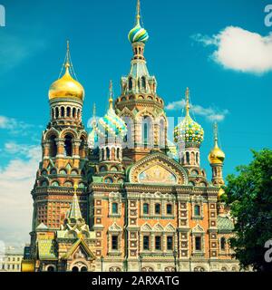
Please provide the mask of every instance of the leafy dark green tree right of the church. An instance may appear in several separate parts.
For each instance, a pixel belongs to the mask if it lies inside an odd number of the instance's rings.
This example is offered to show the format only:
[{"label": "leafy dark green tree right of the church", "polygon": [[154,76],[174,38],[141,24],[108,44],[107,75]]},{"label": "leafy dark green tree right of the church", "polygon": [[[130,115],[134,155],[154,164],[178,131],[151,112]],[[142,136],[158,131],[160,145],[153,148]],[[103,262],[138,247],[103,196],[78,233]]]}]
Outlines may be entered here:
[{"label": "leafy dark green tree right of the church", "polygon": [[272,239],[272,150],[252,152],[252,162],[227,177],[225,198],[236,220],[230,245],[242,268],[272,271],[264,257],[265,243]]}]

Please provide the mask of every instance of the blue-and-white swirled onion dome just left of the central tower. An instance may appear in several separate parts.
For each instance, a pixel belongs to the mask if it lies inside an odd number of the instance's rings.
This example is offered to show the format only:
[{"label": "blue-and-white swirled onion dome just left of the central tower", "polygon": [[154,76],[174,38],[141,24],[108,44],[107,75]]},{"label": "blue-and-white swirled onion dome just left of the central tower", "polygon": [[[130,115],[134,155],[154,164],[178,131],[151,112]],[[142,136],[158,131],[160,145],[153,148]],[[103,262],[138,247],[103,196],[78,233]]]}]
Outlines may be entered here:
[{"label": "blue-and-white swirled onion dome just left of the central tower", "polygon": [[112,105],[112,82],[110,84],[109,109],[107,113],[99,119],[97,125],[98,135],[101,137],[120,137],[123,138],[127,134],[127,126],[124,121],[115,113]]}]

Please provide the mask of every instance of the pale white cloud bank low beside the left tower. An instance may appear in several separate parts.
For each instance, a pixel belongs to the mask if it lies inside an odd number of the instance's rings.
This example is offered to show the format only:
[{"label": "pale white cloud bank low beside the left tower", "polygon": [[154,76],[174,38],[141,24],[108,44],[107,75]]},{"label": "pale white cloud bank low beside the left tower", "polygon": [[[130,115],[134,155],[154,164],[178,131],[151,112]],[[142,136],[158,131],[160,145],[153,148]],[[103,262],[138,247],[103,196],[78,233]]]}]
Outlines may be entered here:
[{"label": "pale white cloud bank low beside the left tower", "polygon": [[[24,243],[29,241],[31,230],[33,201],[30,192],[41,149],[40,146],[7,143],[5,150],[15,154],[15,159],[0,168],[0,240],[8,244]],[[18,154],[22,157],[16,157]]]}]

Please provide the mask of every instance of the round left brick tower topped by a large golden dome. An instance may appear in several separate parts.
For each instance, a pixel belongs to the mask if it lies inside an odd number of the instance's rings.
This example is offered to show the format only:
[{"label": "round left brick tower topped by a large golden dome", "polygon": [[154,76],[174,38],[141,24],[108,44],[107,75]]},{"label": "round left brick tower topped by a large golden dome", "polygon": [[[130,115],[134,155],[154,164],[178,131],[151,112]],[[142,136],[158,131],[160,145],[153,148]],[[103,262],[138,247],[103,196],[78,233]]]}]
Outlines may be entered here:
[{"label": "round left brick tower topped by a large golden dome", "polygon": [[[64,72],[63,72],[64,70]],[[67,51],[62,72],[49,89],[50,121],[42,134],[43,156],[37,170],[32,196],[34,198],[33,232],[44,223],[49,229],[63,224],[78,186],[83,217],[86,195],[87,133],[82,122],[84,89],[76,80]]]}]

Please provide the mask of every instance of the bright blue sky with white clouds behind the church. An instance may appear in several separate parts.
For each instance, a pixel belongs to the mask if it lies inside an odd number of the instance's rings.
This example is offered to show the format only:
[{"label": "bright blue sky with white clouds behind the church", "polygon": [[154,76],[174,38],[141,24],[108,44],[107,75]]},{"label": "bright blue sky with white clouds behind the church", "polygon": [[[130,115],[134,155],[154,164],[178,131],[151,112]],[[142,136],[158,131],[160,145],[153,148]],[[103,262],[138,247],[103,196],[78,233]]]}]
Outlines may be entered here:
[{"label": "bright blue sky with white clouds behind the church", "polygon": [[[269,1],[141,2],[150,34],[145,52],[150,73],[167,108],[172,102],[178,108],[167,110],[176,121],[189,86],[195,118],[205,130],[201,162],[208,173],[214,119],[219,120],[227,155],[225,175],[251,160],[250,149],[271,148],[272,39],[271,27],[264,24]],[[28,240],[29,190],[40,159],[41,131],[49,121],[47,93],[60,73],[66,40],[85,89],[87,124],[93,102],[99,115],[105,112],[109,80],[117,96],[121,76],[129,73],[127,34],[134,24],[135,3],[1,1],[6,26],[0,27],[0,200],[5,207],[0,240]]]}]

